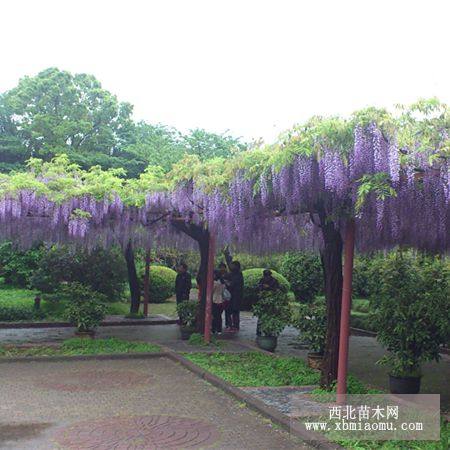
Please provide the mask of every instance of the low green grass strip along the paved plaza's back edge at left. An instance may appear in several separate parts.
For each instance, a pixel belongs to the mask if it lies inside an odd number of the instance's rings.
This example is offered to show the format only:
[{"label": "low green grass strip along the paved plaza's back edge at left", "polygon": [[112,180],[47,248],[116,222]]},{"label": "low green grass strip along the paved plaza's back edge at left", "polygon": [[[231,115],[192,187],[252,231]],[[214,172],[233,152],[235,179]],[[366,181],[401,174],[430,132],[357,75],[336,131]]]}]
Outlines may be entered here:
[{"label": "low green grass strip along the paved plaza's back edge at left", "polygon": [[0,357],[104,355],[111,353],[149,353],[159,351],[161,351],[159,346],[147,342],[131,342],[116,338],[73,338],[63,341],[59,347],[0,347]]}]

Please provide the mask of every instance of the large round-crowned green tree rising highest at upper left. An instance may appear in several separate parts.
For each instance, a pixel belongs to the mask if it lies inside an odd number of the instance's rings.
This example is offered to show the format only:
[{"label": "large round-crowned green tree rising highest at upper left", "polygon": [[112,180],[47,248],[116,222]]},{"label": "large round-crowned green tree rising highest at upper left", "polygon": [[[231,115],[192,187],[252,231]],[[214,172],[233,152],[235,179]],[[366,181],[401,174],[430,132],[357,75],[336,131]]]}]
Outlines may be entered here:
[{"label": "large round-crowned green tree rising highest at upper left", "polygon": [[132,106],[121,103],[92,75],[49,68],[24,77],[0,98],[7,134],[29,156],[63,151],[120,154],[133,133]]}]

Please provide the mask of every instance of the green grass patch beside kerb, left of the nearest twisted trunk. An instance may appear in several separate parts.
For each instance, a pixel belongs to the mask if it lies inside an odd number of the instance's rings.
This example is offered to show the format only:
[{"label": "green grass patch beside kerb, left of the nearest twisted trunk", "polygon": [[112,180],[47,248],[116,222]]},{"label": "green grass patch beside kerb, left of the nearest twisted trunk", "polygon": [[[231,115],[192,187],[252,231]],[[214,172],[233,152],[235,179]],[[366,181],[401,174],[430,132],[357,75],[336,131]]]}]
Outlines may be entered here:
[{"label": "green grass patch beside kerb, left of the nearest twisted trunk", "polygon": [[294,357],[274,358],[260,352],[184,356],[235,386],[306,386],[319,382],[319,372]]}]

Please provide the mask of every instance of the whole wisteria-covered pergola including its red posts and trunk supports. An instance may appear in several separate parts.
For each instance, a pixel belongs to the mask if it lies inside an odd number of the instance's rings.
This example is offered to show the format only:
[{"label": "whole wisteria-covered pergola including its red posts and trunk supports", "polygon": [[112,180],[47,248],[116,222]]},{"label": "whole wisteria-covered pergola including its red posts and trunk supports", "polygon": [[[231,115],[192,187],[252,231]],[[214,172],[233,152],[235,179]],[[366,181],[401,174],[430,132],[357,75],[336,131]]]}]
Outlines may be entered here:
[{"label": "whole wisteria-covered pergola including its red posts and trunk supports", "polygon": [[[425,147],[414,140],[400,146],[398,130],[376,120],[314,126],[313,132],[300,129],[274,148],[237,157],[226,178],[213,176],[224,167],[212,175],[206,167],[202,178],[188,173],[170,188],[105,183],[100,189],[79,172],[11,176],[3,182],[0,235],[23,245],[131,241],[145,248],[191,248],[193,238],[201,254],[207,341],[216,247],[319,250],[328,314],[323,381],[329,384],[337,373],[338,393],[344,393],[355,248],[449,249],[448,133],[436,127],[441,138],[428,139]],[[59,176],[75,180],[67,195],[52,188]],[[205,181],[208,176],[211,183]]]}]

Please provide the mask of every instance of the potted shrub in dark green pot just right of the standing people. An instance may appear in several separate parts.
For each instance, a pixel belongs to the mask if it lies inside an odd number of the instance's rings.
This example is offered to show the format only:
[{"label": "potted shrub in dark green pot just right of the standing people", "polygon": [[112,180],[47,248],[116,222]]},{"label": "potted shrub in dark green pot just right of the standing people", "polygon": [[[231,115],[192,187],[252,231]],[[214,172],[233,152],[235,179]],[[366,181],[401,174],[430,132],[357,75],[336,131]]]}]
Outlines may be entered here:
[{"label": "potted shrub in dark green pot just right of the standing people", "polygon": [[261,336],[257,337],[257,344],[263,350],[275,351],[278,336],[291,320],[289,297],[282,291],[267,291],[259,295],[253,305],[253,315],[259,320]]}]

